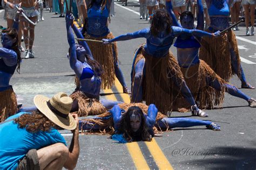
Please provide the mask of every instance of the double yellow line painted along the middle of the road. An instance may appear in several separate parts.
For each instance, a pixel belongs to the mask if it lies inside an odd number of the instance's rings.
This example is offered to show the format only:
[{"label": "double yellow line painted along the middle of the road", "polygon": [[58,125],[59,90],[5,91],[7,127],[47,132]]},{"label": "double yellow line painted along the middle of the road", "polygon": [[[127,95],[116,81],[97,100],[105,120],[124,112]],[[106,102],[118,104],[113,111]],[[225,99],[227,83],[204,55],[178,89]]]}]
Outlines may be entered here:
[{"label": "double yellow line painted along the middle of the road", "polygon": [[[78,27],[77,22],[75,22],[75,25]],[[122,100],[125,103],[130,103],[130,96],[123,93],[122,85],[117,80],[117,78],[115,81],[115,87],[119,93],[118,95],[122,97]],[[111,94],[111,95],[106,95],[107,99],[117,101],[117,98],[116,96],[114,96],[112,89],[105,89],[103,91],[106,94]],[[164,153],[161,151],[161,148],[158,146],[154,138],[150,142],[145,141],[145,144],[149,149],[159,169],[173,169],[170,162],[166,159]],[[145,160],[145,157],[142,151],[140,150],[140,147],[137,142],[127,143],[126,146],[132,157],[134,165],[136,166],[137,169],[150,169],[149,165],[147,165],[147,161]]]}]

